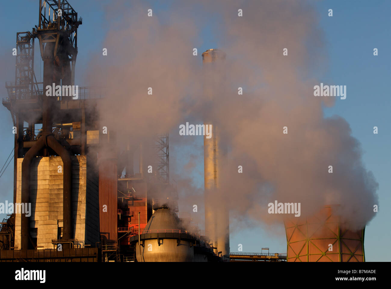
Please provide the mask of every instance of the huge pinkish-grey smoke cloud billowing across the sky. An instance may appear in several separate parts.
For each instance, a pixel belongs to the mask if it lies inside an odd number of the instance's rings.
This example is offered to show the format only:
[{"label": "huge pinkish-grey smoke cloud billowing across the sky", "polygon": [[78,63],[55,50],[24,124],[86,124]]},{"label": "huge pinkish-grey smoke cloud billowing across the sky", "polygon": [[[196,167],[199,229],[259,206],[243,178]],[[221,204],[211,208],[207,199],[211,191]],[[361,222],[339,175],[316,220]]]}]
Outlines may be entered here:
[{"label": "huge pinkish-grey smoke cloud billowing across the sky", "polygon": [[[110,87],[100,117],[120,141],[129,135],[139,140],[158,132],[178,134],[189,119],[207,119],[218,126],[228,149],[219,160],[217,195],[231,217],[280,222],[282,215],[267,213],[267,204],[278,200],[301,202],[301,217],[339,204],[337,213],[350,228],[373,218],[378,184],[361,161],[361,146],[343,118],[323,116],[322,104],[334,105],[335,98],[313,95],[327,59],[311,5],[174,1],[147,17],[149,8],[133,2],[107,11],[106,19],[120,17],[121,25],[108,23],[102,47],[108,56],[94,56],[87,76],[89,85]],[[237,16],[239,8],[243,17]],[[218,21],[208,29],[227,54],[213,74],[202,68],[202,51],[192,55],[203,41],[203,22],[212,18]],[[190,138],[176,137],[176,145],[192,148]],[[177,176],[185,180],[180,186],[188,196],[197,190],[189,170],[203,162],[195,155],[198,159]],[[333,173],[328,173],[330,165]]]}]

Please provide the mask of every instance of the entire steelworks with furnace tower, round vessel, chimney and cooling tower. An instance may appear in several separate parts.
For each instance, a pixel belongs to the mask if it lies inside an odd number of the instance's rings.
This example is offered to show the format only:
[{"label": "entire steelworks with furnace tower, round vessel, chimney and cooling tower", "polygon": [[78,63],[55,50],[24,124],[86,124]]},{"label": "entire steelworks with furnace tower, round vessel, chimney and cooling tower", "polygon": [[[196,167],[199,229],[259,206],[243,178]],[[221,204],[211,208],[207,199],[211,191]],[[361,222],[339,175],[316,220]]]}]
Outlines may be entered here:
[{"label": "entire steelworks with furnace tower, round vessel, chimney and cooling tower", "polygon": [[[0,262],[364,261],[363,231],[360,236],[341,231],[329,211],[326,225],[332,224],[335,235],[324,230],[319,235],[308,229],[311,222],[286,222],[288,256],[230,254],[229,213],[213,195],[226,151],[217,126],[212,126],[212,138],[204,137],[206,231],[188,216],[179,218],[178,195],[169,178],[168,134],[151,135],[152,144],[132,146],[129,139],[121,149],[115,132],[102,129],[97,114],[104,89],[78,87],[77,97],[46,93],[47,86],[75,84],[79,25],[82,18],[68,1],[39,0],[38,25],[16,34],[15,81],[6,83],[8,97],[2,104],[16,128],[13,202],[31,203],[31,215],[13,213],[0,224]],[[34,74],[35,39],[43,82]],[[218,49],[202,56],[205,70],[225,59]],[[150,177],[145,148],[151,145],[156,173]],[[334,244],[335,255],[325,251],[326,243]]]}]

